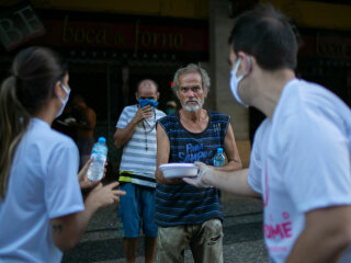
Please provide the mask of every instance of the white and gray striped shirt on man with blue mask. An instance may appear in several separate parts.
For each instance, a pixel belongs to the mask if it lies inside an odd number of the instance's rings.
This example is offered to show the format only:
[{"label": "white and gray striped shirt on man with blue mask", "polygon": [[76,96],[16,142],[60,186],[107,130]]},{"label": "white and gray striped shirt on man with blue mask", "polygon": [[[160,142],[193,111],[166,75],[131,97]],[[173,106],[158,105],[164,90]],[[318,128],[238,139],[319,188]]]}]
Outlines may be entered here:
[{"label": "white and gray striped shirt on man with blue mask", "polygon": [[[126,106],[116,127],[124,129],[137,110],[138,105]],[[163,116],[166,114],[156,108],[152,117],[136,126],[132,138],[123,148],[120,173],[132,178],[134,184],[156,187],[156,122]]]}]

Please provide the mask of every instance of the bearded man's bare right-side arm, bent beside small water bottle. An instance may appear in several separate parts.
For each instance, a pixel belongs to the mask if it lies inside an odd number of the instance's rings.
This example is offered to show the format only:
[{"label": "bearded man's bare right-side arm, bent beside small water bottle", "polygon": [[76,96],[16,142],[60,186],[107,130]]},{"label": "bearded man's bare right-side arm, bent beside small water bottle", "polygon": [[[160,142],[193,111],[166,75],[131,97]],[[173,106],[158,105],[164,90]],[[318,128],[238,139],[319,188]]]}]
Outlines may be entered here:
[{"label": "bearded man's bare right-side arm, bent beside small water bottle", "polygon": [[225,167],[216,168],[218,171],[235,171],[242,168],[239,151],[235,142],[231,125],[228,125],[228,130],[224,139],[224,150],[226,152],[228,163]]}]

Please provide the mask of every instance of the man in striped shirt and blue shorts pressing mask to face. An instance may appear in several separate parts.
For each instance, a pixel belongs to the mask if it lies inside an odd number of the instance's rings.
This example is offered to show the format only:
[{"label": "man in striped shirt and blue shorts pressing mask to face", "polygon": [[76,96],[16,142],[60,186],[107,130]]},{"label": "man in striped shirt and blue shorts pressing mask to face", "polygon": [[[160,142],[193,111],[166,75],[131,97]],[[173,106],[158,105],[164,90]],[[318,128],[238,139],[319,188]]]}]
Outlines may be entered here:
[{"label": "man in striped shirt and blue shorts pressing mask to face", "polygon": [[145,233],[145,262],[154,262],[157,226],[155,215],[156,123],[166,114],[156,108],[160,93],[154,80],[141,80],[135,93],[138,104],[126,106],[117,122],[114,145],[123,148],[120,167],[118,216],[124,228],[123,247],[127,263],[135,262],[140,225]]}]

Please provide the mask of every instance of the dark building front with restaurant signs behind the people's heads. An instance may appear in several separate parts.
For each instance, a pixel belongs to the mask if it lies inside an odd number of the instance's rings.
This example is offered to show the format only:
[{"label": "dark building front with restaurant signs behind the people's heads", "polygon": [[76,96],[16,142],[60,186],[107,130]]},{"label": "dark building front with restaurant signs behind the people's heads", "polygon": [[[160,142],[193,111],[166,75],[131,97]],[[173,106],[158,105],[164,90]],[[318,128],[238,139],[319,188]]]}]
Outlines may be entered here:
[{"label": "dark building front with restaurant signs behind the people's heads", "polygon": [[63,54],[72,93],[95,110],[95,135],[107,138],[111,159],[117,160],[115,123],[123,107],[135,103],[137,82],[151,78],[159,83],[163,110],[176,100],[174,71],[201,64],[212,78],[205,106],[231,116],[248,165],[263,116],[240,106],[230,93],[228,36],[235,18],[258,2],[270,2],[299,30],[297,76],[326,85],[350,105],[351,4],[346,0],[9,0],[0,2],[0,78],[23,47],[44,45]]}]

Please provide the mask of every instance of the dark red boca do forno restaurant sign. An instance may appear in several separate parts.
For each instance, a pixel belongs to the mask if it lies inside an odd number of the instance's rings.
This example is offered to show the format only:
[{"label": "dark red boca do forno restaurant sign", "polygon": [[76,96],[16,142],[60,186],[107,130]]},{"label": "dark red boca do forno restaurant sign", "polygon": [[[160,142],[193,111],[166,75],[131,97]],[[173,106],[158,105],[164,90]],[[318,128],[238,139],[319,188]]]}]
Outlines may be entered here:
[{"label": "dark red boca do forno restaurant sign", "polygon": [[41,44],[69,47],[117,49],[208,52],[207,28],[107,23],[70,20],[45,20],[47,34]]}]

